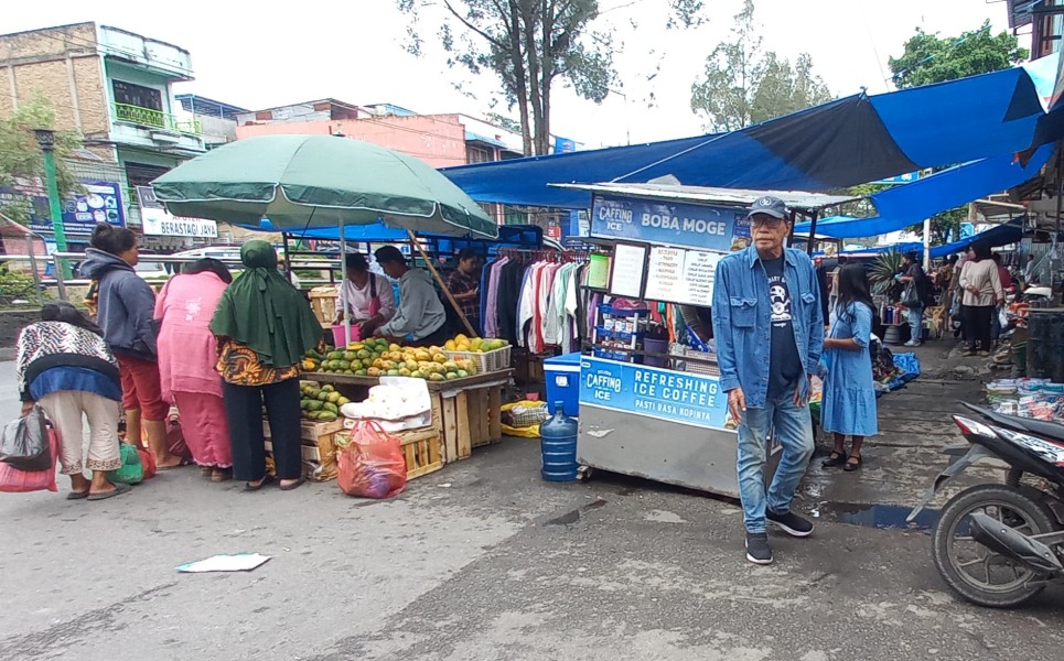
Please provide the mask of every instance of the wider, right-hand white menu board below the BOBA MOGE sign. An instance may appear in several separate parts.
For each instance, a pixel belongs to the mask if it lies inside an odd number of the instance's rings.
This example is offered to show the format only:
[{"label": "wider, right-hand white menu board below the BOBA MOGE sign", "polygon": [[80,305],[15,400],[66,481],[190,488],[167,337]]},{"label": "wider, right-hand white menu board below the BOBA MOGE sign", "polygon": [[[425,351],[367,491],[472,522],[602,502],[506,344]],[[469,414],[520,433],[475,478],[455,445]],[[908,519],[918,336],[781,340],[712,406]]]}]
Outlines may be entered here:
[{"label": "wider, right-hand white menu board below the BOBA MOGE sign", "polygon": [[668,301],[709,307],[713,303],[713,277],[723,254],[702,250],[655,247],[646,295],[651,301]]}]

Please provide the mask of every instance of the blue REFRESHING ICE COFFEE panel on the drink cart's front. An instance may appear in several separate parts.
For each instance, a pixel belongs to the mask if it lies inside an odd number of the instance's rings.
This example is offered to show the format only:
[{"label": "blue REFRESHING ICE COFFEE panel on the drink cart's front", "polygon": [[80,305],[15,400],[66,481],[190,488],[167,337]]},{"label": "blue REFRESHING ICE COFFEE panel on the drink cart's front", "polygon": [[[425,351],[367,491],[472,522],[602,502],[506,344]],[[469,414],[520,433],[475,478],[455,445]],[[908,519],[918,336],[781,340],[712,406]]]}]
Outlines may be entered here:
[{"label": "blue REFRESHING ICE COFFEE panel on the drink cart's front", "polygon": [[699,427],[728,430],[728,394],[717,377],[580,359],[580,405],[624,411]]}]

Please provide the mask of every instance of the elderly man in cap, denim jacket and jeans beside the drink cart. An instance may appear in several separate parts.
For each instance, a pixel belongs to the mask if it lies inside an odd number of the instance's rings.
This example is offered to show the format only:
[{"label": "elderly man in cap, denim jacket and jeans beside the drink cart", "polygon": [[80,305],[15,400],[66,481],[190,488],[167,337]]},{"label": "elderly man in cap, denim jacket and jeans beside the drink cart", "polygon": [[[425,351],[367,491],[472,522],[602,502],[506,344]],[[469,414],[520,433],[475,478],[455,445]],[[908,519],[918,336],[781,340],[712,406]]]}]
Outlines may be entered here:
[{"label": "elderly man in cap, denim jacket and jeans beside the drink cart", "polygon": [[[824,316],[813,262],[784,248],[791,217],[783,201],[761,197],[746,217],[753,246],[717,266],[713,335],[721,388],[739,425],[746,560],[769,564],[769,522],[794,537],[813,532],[809,521],[791,511],[791,499],[813,454],[809,378],[820,360]],[[783,457],[766,494],[770,432]]]}]

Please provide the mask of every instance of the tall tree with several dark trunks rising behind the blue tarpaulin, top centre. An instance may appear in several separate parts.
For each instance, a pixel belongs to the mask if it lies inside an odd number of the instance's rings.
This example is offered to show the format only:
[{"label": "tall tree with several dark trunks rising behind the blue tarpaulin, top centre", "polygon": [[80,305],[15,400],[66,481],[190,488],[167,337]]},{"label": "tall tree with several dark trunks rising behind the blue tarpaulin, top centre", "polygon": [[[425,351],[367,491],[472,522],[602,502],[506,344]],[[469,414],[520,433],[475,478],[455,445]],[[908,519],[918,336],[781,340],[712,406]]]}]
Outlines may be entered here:
[{"label": "tall tree with several dark trunks rising behind the blue tarpaulin, top centre", "polygon": [[[665,0],[668,26],[701,20],[702,0]],[[413,19],[409,50],[421,53],[418,19],[439,0],[396,0]],[[450,66],[494,72],[509,105],[517,106],[526,154],[550,150],[555,84],[565,80],[601,102],[617,83],[613,29],[599,22],[598,0],[442,0],[438,36]],[[438,15],[438,14],[432,14]],[[599,28],[601,25],[601,28]]]}]

